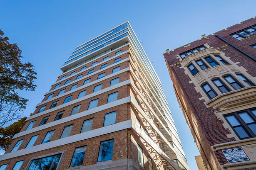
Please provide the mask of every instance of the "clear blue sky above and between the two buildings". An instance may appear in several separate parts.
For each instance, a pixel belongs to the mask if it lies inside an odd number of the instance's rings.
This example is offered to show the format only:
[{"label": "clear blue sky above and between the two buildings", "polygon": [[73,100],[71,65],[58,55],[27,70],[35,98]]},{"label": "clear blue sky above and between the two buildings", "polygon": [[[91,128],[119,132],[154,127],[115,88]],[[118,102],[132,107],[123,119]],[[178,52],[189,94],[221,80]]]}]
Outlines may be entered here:
[{"label": "clear blue sky above and between the two buildings", "polygon": [[197,170],[194,156],[199,151],[179,109],[163,53],[254,17],[255,7],[255,0],[5,0],[0,29],[37,72],[36,90],[20,92],[29,99],[24,113],[29,116],[76,46],[129,20],[162,81],[189,167]]}]

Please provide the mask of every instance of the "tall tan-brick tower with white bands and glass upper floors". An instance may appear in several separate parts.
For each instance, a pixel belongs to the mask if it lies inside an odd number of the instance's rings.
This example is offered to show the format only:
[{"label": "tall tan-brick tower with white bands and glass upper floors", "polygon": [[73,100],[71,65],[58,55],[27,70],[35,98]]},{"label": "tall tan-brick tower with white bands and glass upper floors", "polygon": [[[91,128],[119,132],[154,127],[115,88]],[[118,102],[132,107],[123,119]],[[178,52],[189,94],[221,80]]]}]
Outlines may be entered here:
[{"label": "tall tan-brick tower with white bands and glass upper floors", "polygon": [[77,46],[0,170],[189,170],[162,85],[129,22]]}]

